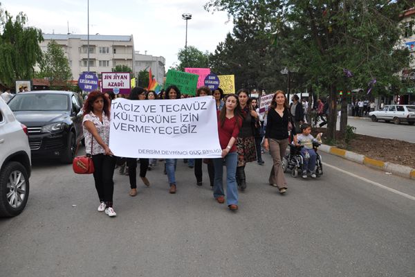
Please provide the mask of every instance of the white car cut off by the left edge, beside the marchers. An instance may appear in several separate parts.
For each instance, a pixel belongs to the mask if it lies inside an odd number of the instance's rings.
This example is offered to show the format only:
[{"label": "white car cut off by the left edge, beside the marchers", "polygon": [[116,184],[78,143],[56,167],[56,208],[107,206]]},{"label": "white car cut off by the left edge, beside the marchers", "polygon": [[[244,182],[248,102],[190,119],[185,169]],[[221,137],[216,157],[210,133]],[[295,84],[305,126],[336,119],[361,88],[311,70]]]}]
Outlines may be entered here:
[{"label": "white car cut off by the left edge, beside the marchers", "polygon": [[29,197],[28,129],[0,98],[0,217],[19,215]]}]

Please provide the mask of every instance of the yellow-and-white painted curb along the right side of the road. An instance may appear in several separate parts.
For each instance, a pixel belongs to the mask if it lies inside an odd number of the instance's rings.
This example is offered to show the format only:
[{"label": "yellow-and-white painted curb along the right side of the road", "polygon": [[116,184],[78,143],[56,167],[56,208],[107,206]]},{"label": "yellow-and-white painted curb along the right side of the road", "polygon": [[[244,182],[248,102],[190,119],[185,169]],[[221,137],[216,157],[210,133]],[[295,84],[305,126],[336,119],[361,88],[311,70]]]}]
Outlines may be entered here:
[{"label": "yellow-and-white painted curb along the right side of the road", "polygon": [[336,148],[334,146],[322,144],[319,147],[319,150],[326,152],[349,161],[354,161],[355,163],[360,163],[369,168],[375,168],[377,170],[382,170],[385,172],[391,172],[394,175],[400,177],[415,179],[415,168],[409,168],[409,166],[401,166],[396,163],[389,163],[385,161],[378,161],[371,159],[362,154],[356,154],[355,152],[350,152],[344,149]]}]

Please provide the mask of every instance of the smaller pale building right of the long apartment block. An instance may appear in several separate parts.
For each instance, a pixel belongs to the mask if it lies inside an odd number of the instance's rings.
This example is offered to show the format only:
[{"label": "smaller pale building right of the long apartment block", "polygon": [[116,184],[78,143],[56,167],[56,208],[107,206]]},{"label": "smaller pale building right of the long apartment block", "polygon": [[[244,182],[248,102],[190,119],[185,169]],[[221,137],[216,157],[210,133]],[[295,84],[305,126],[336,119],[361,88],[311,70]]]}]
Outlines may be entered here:
[{"label": "smaller pale building right of the long apartment block", "polygon": [[151,69],[151,73],[154,75],[154,78],[160,85],[162,85],[164,82],[165,64],[166,59],[164,57],[143,55],[140,54],[140,51],[136,51],[134,66],[136,73],[142,70],[149,71]]}]

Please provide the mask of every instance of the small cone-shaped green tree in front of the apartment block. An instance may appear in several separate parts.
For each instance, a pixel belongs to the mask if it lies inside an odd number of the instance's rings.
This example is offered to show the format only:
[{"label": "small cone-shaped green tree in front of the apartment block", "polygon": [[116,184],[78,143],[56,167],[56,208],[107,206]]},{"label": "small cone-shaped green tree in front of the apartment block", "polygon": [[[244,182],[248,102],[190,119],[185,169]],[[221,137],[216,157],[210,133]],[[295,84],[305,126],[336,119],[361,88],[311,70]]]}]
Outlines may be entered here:
[{"label": "small cone-shaped green tree in front of the apartment block", "polygon": [[68,80],[72,80],[68,58],[65,57],[62,46],[57,44],[55,40],[48,43],[48,50],[39,62],[39,68],[40,71],[35,73],[35,76],[37,78],[47,78],[50,81],[50,87],[62,86]]}]

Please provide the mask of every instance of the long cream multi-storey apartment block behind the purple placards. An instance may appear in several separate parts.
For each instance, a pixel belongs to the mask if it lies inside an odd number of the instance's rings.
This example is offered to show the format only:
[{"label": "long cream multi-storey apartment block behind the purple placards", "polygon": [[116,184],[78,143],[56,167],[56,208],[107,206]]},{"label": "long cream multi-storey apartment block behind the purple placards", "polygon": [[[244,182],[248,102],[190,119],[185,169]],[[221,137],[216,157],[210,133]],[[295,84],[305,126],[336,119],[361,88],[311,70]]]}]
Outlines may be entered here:
[{"label": "long cream multi-storey apartment block behind the purple placards", "polygon": [[[43,37],[44,42],[40,43],[42,51],[47,50],[51,40],[62,45],[71,66],[73,80],[88,70],[87,35],[43,34]],[[133,35],[89,35],[89,71],[101,78],[101,72],[110,72],[117,65],[129,66],[135,74]]]}]

